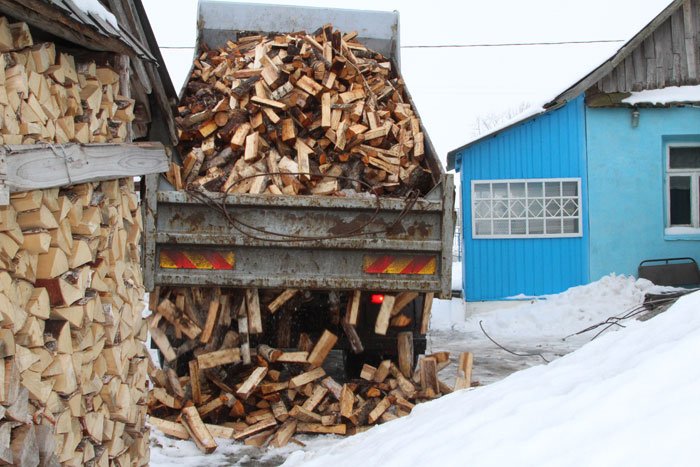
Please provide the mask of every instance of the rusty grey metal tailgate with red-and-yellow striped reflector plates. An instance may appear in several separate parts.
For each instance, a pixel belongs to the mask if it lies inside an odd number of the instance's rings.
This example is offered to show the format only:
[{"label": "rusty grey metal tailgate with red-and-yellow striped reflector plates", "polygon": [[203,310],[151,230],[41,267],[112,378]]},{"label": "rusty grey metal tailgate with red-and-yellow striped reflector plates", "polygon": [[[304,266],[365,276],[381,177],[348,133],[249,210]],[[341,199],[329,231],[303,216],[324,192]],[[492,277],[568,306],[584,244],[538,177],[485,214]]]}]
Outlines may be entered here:
[{"label": "rusty grey metal tailgate with red-and-yellow striped reflector plates", "polygon": [[[433,196],[409,210],[402,199],[246,194],[225,197],[224,214],[186,192],[159,191],[155,238],[146,237],[145,249],[155,283],[147,286],[449,296],[454,199],[443,190],[453,193],[452,183],[443,175]],[[210,196],[223,204],[222,195]]]}]

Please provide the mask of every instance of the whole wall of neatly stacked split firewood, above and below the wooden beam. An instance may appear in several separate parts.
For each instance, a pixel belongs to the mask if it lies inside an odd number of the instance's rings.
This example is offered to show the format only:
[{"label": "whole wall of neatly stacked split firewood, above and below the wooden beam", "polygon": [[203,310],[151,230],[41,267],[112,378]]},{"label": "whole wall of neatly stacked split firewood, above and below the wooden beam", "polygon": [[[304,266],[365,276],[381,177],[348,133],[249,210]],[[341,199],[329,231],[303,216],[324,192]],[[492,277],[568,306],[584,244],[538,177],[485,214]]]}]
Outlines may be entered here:
[{"label": "whole wall of neatly stacked split firewood, above and below the wooden beam", "polygon": [[[128,141],[117,71],[6,18],[0,51],[0,143]],[[0,465],[148,463],[142,230],[133,179],[0,206]]]}]

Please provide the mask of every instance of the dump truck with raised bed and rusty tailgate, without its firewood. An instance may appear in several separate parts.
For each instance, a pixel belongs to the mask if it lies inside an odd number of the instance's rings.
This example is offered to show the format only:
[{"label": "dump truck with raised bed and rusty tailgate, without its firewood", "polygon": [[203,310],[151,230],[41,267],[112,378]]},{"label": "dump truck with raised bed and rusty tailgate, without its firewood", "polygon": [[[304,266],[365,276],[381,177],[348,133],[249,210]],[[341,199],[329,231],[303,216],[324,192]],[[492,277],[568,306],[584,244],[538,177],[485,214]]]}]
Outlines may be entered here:
[{"label": "dump truck with raised bed and rusty tailgate, without its firewood", "polygon": [[[357,42],[390,60],[400,78],[398,12],[200,1],[198,15],[195,61],[242,34],[311,33],[330,23],[357,31]],[[181,98],[186,87],[187,82]],[[147,178],[146,287],[161,294],[188,287],[241,296],[253,288],[260,297],[298,292],[285,323],[280,312],[273,315],[261,306],[266,331],[251,334],[251,348],[261,343],[295,347],[302,334],[316,340],[330,330],[339,336],[335,347],[344,351],[350,373],[364,362],[395,356],[399,332],[411,331],[414,354],[423,353],[423,314],[430,312],[434,297],[451,294],[455,194],[452,175],[445,173],[420,125],[430,177],[419,197],[224,193],[204,199],[175,189],[165,177]],[[184,154],[173,157],[182,163],[178,157]],[[407,297],[398,310],[404,319],[377,334],[377,316],[387,298],[394,303]],[[361,352],[340,319],[349,302],[355,307]],[[202,313],[204,321],[206,310]]]}]

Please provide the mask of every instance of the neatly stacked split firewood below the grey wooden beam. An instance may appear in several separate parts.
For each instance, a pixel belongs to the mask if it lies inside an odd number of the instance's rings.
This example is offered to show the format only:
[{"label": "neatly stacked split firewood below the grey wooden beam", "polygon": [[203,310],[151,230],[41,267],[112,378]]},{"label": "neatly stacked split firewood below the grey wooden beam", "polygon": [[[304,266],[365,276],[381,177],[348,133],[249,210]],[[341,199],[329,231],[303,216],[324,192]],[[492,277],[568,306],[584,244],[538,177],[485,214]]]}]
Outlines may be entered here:
[{"label": "neatly stacked split firewood below the grey wooden beam", "polygon": [[0,206],[0,464],[148,463],[133,179]]}]

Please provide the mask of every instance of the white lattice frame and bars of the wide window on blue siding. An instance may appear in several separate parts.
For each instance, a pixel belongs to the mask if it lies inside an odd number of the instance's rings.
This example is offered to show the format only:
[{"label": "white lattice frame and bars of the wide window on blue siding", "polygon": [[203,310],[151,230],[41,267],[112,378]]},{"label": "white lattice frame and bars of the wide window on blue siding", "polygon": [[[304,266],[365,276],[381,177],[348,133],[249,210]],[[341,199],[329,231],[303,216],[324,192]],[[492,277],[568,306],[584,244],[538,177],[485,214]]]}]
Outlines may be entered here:
[{"label": "white lattice frame and bars of the wide window on blue siding", "polygon": [[[527,184],[528,183],[533,183],[533,182],[576,182],[576,192],[577,194],[577,201],[578,201],[578,213],[575,216],[562,216],[561,214],[559,216],[555,216],[554,218],[561,219],[576,219],[578,222],[578,232],[576,233],[558,233],[558,234],[490,234],[490,235],[484,235],[484,234],[477,234],[476,233],[476,215],[475,215],[475,208],[476,208],[476,203],[475,200],[475,191],[474,188],[477,184],[485,184],[488,183],[491,185],[491,200],[493,200],[493,184],[494,183],[507,183],[508,184],[508,198],[504,198],[505,200],[512,200],[514,199],[511,196],[511,188],[510,185],[513,183],[524,183],[526,190],[527,190]],[[544,187],[543,187],[544,190]],[[559,199],[561,201],[562,198],[571,198],[570,196],[562,196],[561,191],[559,195]],[[502,219],[507,219],[507,220],[514,220],[514,219],[524,219],[524,220],[529,220],[532,219],[529,216],[529,209],[528,209],[528,201],[531,199],[527,196],[527,191],[525,192],[525,198],[515,198],[515,199],[524,199],[525,200],[525,217],[510,217],[510,209],[508,209],[508,216]],[[544,191],[543,191],[543,198],[537,198],[537,199],[555,199],[555,198],[547,198],[544,196]],[[471,207],[470,207],[470,212],[471,212],[471,227],[472,227],[472,238],[473,239],[518,239],[518,238],[575,238],[575,237],[582,237],[583,236],[583,219],[582,219],[582,212],[583,212],[583,196],[581,194],[581,179],[580,178],[515,178],[515,179],[496,179],[496,180],[472,180],[471,181]],[[543,212],[546,212],[546,206],[543,206]],[[542,217],[536,217],[536,219],[542,219],[543,221],[546,221],[547,219],[552,219],[553,217],[547,217],[542,216]],[[491,221],[493,222],[494,218],[490,218]],[[481,219],[480,219],[481,220]],[[526,226],[527,226],[526,222]],[[546,222],[545,222],[546,225]],[[527,228],[527,227],[526,227]],[[508,230],[510,231],[511,229],[511,223],[508,222]],[[562,230],[563,230],[563,225],[562,225]],[[492,230],[493,232],[493,224],[492,224]]]}]

